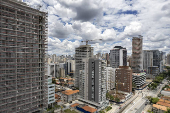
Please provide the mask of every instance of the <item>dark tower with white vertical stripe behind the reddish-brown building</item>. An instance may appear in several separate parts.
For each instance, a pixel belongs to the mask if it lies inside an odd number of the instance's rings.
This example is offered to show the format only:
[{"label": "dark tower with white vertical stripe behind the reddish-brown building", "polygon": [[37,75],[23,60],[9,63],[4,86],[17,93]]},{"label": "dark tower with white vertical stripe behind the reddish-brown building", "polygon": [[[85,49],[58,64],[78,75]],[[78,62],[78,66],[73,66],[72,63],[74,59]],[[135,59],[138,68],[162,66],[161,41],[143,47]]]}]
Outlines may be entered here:
[{"label": "dark tower with white vertical stripe behind the reddish-brown building", "polygon": [[110,65],[112,68],[127,66],[127,50],[121,46],[115,46],[110,50]]}]

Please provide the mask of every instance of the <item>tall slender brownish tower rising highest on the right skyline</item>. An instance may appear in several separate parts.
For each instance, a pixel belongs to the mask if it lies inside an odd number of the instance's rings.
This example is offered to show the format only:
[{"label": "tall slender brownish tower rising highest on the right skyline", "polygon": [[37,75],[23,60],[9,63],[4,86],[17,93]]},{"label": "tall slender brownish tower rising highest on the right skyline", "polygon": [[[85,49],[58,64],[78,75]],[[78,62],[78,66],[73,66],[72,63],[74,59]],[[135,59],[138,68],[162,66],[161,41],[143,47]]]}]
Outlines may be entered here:
[{"label": "tall slender brownish tower rising highest on the right skyline", "polygon": [[133,37],[132,39],[132,71],[140,73],[143,70],[143,55],[142,55],[143,37]]}]

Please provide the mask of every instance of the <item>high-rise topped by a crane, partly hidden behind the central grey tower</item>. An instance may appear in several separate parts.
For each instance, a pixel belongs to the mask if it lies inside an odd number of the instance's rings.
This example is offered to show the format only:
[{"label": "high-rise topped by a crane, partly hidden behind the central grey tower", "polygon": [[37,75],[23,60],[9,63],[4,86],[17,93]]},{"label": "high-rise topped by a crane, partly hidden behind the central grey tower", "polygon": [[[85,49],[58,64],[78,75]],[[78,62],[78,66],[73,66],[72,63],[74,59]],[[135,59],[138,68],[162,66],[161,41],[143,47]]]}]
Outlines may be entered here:
[{"label": "high-rise topped by a crane, partly hidden behind the central grey tower", "polygon": [[91,45],[81,45],[75,49],[75,87],[79,88],[79,71],[83,70],[82,59],[93,56],[93,47]]}]

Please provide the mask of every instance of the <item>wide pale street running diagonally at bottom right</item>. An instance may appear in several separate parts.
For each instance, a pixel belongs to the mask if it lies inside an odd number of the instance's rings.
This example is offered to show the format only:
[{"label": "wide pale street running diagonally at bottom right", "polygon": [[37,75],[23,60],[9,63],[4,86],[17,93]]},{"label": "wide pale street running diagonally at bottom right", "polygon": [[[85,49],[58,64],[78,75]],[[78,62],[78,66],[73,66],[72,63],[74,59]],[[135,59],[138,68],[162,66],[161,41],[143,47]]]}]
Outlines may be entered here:
[{"label": "wide pale street running diagonally at bottom right", "polygon": [[[146,103],[146,96],[157,97],[160,93],[162,88],[167,84],[166,80],[163,80],[163,84],[160,84],[156,90],[148,90],[147,87],[143,90],[137,90],[136,94],[127,100],[125,103],[121,104],[121,109],[125,108],[121,113],[135,113],[138,109],[144,108]],[[112,110],[108,111],[107,113],[119,113],[120,110],[118,105],[113,105]],[[141,109],[141,111],[142,111]]]}]

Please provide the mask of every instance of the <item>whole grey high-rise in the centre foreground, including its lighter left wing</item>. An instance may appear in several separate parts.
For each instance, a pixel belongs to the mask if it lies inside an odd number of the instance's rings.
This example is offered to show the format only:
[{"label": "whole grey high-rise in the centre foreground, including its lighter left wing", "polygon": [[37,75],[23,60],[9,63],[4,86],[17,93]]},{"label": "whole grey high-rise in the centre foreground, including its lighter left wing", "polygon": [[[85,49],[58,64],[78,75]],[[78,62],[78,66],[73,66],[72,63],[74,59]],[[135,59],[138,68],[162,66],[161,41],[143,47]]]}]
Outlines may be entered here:
[{"label": "whole grey high-rise in the centre foreground, including its lighter left wing", "polygon": [[106,102],[106,62],[95,58],[83,59],[80,71],[80,98],[103,104]]}]

